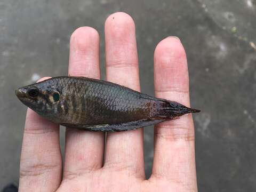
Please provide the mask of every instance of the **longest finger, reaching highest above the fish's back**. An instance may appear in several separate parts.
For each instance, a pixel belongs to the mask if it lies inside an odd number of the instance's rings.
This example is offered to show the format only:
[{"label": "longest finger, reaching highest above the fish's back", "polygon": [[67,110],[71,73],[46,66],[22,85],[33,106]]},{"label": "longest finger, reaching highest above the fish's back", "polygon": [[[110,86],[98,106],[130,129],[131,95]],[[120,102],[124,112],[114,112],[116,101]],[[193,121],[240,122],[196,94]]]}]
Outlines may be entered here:
[{"label": "longest finger, reaching highest above the fish's back", "polygon": [[[111,14],[105,23],[107,81],[140,90],[135,25],[126,13]],[[143,130],[108,133],[104,167],[129,169],[145,177]]]}]

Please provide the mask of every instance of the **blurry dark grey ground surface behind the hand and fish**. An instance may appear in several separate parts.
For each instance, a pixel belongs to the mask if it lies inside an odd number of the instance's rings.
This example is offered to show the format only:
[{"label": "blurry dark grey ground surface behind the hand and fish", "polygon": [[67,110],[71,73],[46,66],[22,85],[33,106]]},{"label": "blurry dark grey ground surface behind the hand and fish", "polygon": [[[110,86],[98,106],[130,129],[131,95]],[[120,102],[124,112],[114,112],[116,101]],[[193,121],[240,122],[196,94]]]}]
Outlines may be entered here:
[{"label": "blurry dark grey ground surface behind the hand and fish", "polygon": [[[18,183],[26,107],[14,89],[39,77],[66,75],[69,37],[80,26],[101,35],[109,14],[129,13],[137,25],[142,92],[154,95],[153,53],[174,35],[185,46],[190,73],[199,191],[256,190],[255,0],[1,0],[0,189]],[[63,146],[64,129],[61,130]],[[153,129],[145,129],[146,172]]]}]

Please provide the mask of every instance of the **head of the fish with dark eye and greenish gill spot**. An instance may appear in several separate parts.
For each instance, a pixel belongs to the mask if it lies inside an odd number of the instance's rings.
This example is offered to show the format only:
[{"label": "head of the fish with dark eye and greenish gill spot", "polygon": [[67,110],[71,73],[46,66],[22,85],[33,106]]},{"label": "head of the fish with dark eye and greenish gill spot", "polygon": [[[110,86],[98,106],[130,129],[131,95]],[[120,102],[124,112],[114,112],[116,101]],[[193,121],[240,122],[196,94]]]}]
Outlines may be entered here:
[{"label": "head of the fish with dark eye and greenish gill spot", "polygon": [[61,87],[55,84],[52,79],[46,79],[15,90],[15,94],[24,105],[43,116],[58,113],[61,92]]}]

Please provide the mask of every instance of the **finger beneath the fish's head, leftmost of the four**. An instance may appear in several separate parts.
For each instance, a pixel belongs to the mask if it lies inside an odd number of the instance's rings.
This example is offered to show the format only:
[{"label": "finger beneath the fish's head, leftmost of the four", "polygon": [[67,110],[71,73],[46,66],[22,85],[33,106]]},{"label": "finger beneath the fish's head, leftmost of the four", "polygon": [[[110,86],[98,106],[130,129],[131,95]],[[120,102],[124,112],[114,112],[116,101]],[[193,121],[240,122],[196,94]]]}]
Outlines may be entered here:
[{"label": "finger beneath the fish's head, leftmost of the four", "polygon": [[19,191],[55,191],[61,182],[61,170],[59,125],[28,109],[20,158]]}]

